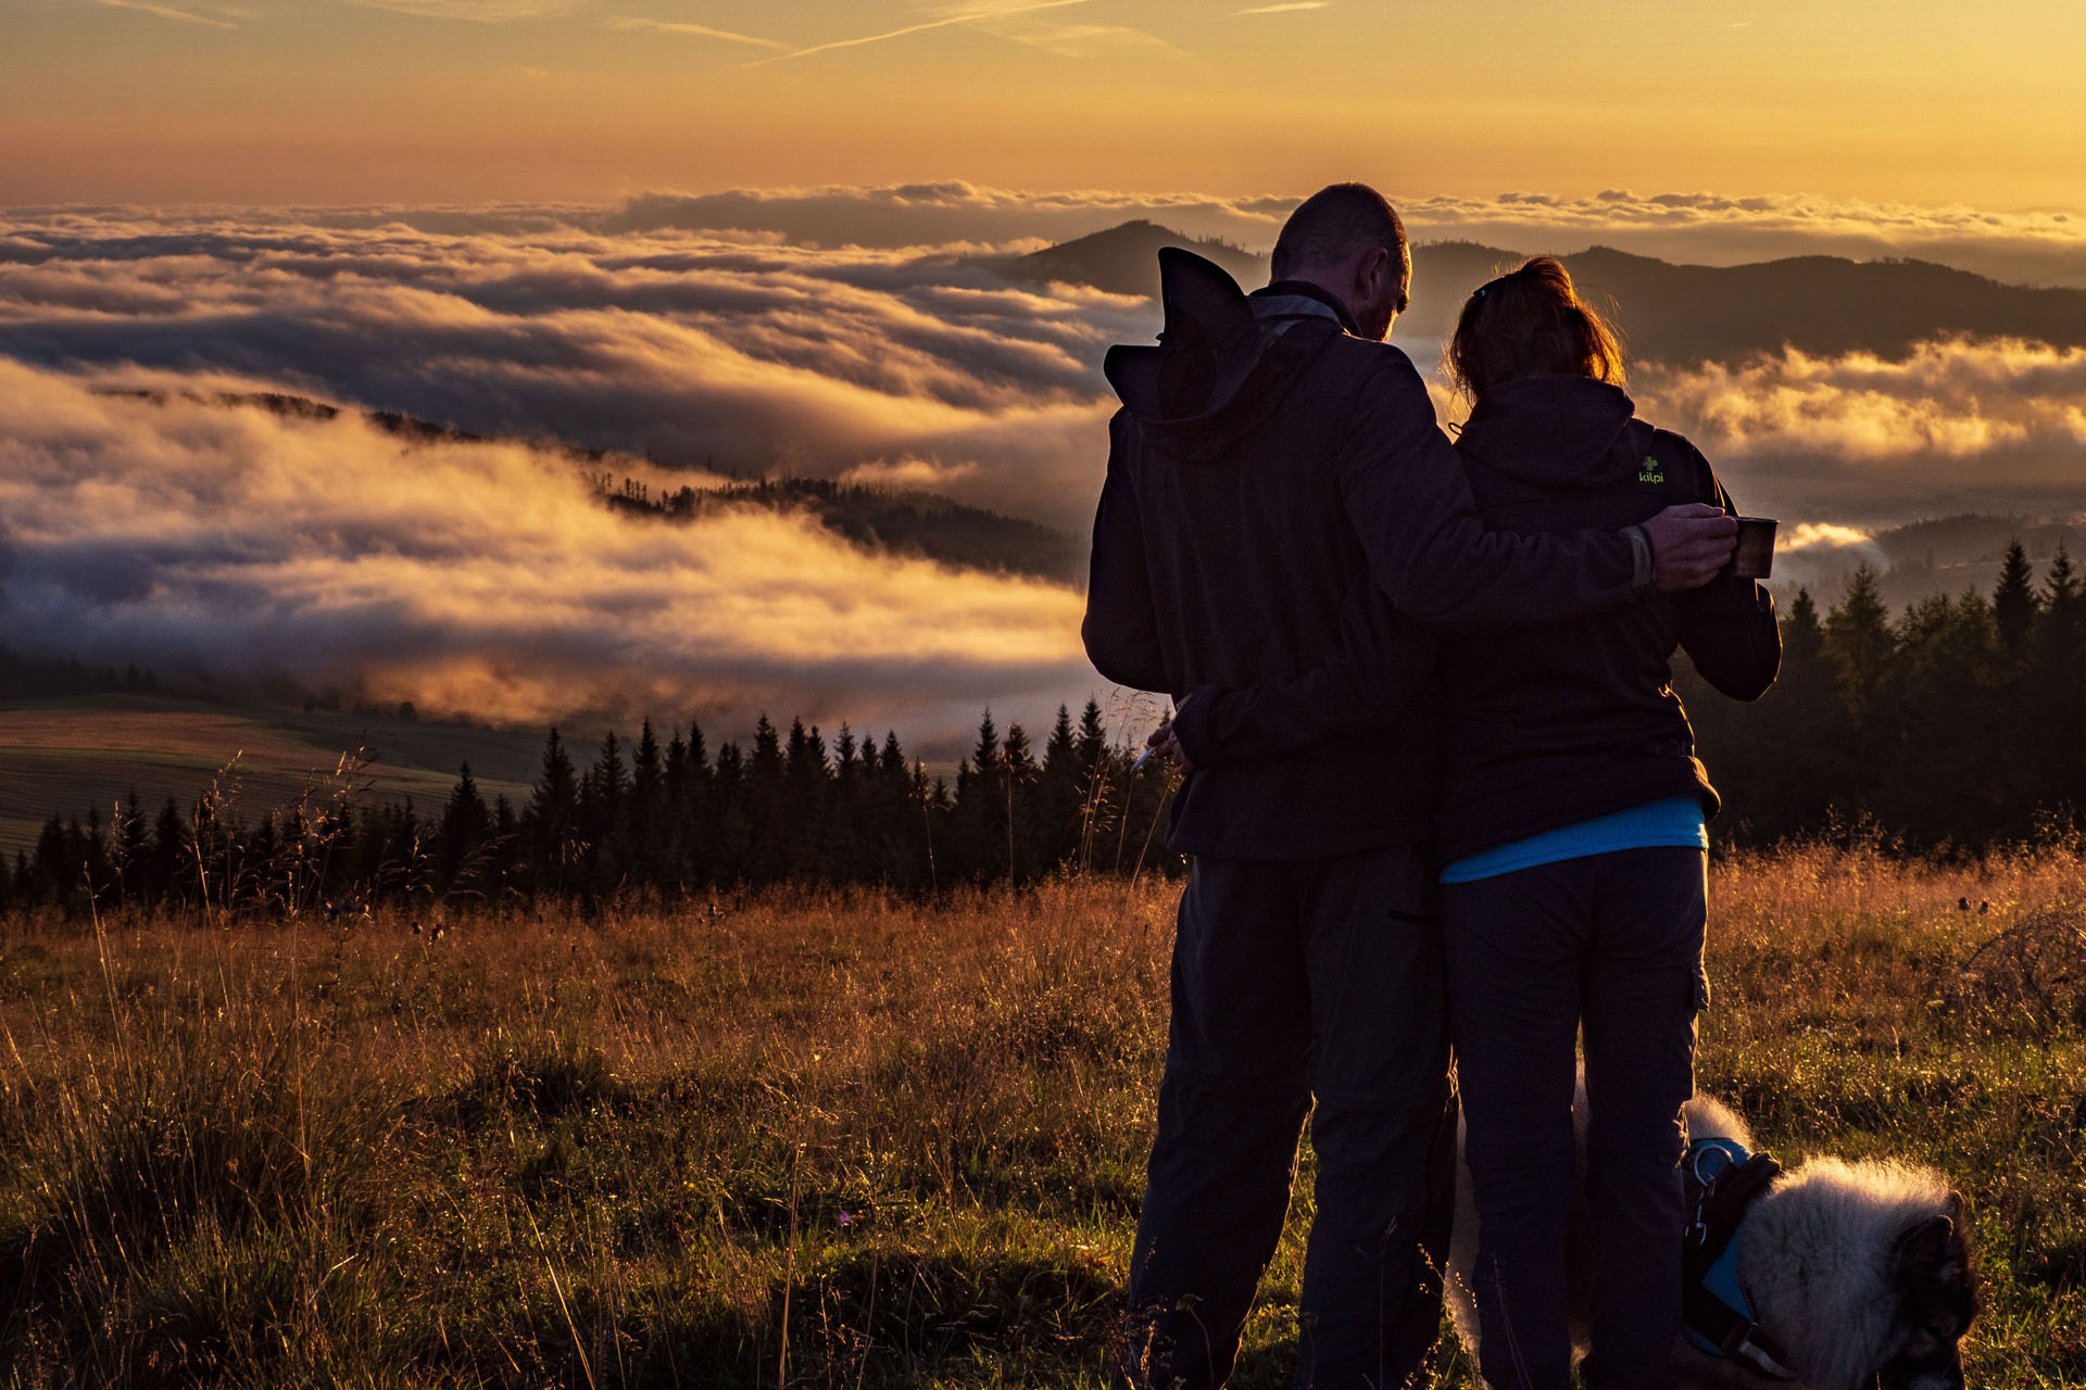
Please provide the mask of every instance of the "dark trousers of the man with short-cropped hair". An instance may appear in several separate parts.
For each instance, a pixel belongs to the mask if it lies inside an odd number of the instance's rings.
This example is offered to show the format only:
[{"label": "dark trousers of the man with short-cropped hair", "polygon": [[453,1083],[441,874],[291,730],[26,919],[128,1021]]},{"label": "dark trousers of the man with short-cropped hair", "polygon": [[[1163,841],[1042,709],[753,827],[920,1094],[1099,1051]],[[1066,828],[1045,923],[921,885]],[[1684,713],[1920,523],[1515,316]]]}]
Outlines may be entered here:
[{"label": "dark trousers of the man with short-cropped hair", "polygon": [[1141,1384],[1204,1390],[1231,1373],[1306,1113],[1318,1177],[1297,1384],[1425,1382],[1456,1159],[1431,879],[1416,846],[1195,859],[1131,1255]]}]

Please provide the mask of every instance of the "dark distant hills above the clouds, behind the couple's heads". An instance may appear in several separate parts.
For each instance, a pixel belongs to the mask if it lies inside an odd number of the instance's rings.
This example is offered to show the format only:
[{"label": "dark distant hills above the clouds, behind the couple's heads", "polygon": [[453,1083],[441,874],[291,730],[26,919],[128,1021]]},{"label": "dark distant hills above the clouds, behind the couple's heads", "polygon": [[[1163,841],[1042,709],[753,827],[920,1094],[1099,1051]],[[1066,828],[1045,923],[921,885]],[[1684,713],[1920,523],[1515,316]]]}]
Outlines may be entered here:
[{"label": "dark distant hills above the clouds, behind the couple's heads", "polygon": [[[1124,223],[1051,246],[1010,273],[1156,294],[1160,246],[1208,254],[1247,290],[1266,281],[1264,258],[1224,246],[1212,250],[1154,223]],[[1414,246],[1412,306],[1398,321],[1398,333],[1448,336],[1471,290],[1527,254],[1479,242]],[[2086,346],[2086,290],[2003,286],[1925,260],[1792,256],[1756,265],[1673,265],[1606,246],[1562,260],[1581,292],[1612,308],[1640,361],[1740,361],[1784,344],[1813,354],[1902,356],[1917,342],[1948,336]]]}]

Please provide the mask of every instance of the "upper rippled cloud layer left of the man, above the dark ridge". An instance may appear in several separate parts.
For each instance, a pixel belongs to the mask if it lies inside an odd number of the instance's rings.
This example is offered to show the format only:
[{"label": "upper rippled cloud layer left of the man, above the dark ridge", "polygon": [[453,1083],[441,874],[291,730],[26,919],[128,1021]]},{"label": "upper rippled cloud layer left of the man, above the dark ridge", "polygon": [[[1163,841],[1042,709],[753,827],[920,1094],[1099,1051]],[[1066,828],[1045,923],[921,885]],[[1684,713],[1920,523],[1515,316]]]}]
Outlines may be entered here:
[{"label": "upper rippled cloud layer left of the man, above the dark ridge", "polygon": [[947,252],[455,227],[19,219],[0,354],[229,371],[668,465],[926,461],[970,479],[960,500],[1078,527],[1106,450],[1101,352],[1156,327],[1141,300],[1012,286]]}]

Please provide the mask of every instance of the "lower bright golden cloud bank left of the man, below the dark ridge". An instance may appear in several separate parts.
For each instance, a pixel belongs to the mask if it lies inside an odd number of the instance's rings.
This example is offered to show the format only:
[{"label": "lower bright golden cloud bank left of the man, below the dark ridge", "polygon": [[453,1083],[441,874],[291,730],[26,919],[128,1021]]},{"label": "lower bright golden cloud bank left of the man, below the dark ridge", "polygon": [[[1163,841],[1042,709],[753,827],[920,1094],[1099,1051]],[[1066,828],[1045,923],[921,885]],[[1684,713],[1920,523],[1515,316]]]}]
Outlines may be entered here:
[{"label": "lower bright golden cloud bank left of the man, below the dark ridge", "polygon": [[196,379],[0,363],[0,638],[511,721],[772,709],[930,742],[1097,686],[1064,588],[797,515],[632,519],[522,444],[104,394],[167,386]]}]

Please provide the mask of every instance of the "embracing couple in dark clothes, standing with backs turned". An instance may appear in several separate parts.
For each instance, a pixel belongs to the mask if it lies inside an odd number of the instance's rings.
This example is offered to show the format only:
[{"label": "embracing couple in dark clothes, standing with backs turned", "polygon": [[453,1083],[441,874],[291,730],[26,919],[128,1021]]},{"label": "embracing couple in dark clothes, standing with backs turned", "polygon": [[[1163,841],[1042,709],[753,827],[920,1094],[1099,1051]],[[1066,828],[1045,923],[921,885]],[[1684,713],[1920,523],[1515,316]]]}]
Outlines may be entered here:
[{"label": "embracing couple in dark clothes, standing with backs turned", "polygon": [[1297,1384],[1429,1380],[1454,1036],[1483,1371],[1564,1390],[1583,1025],[1585,1384],[1663,1386],[1717,804],[1667,663],[1685,646],[1750,698],[1779,659],[1765,592],[1723,573],[1729,498],[1633,419],[1615,338],[1554,260],[1464,304],[1458,446],[1383,342],[1412,260],[1375,190],[1306,200],[1252,296],[1187,252],[1160,267],[1160,346],[1108,356],[1085,621],[1101,675],[1174,698],[1154,742],[1189,769],[1122,1371],[1231,1373],[1308,1117]]}]

